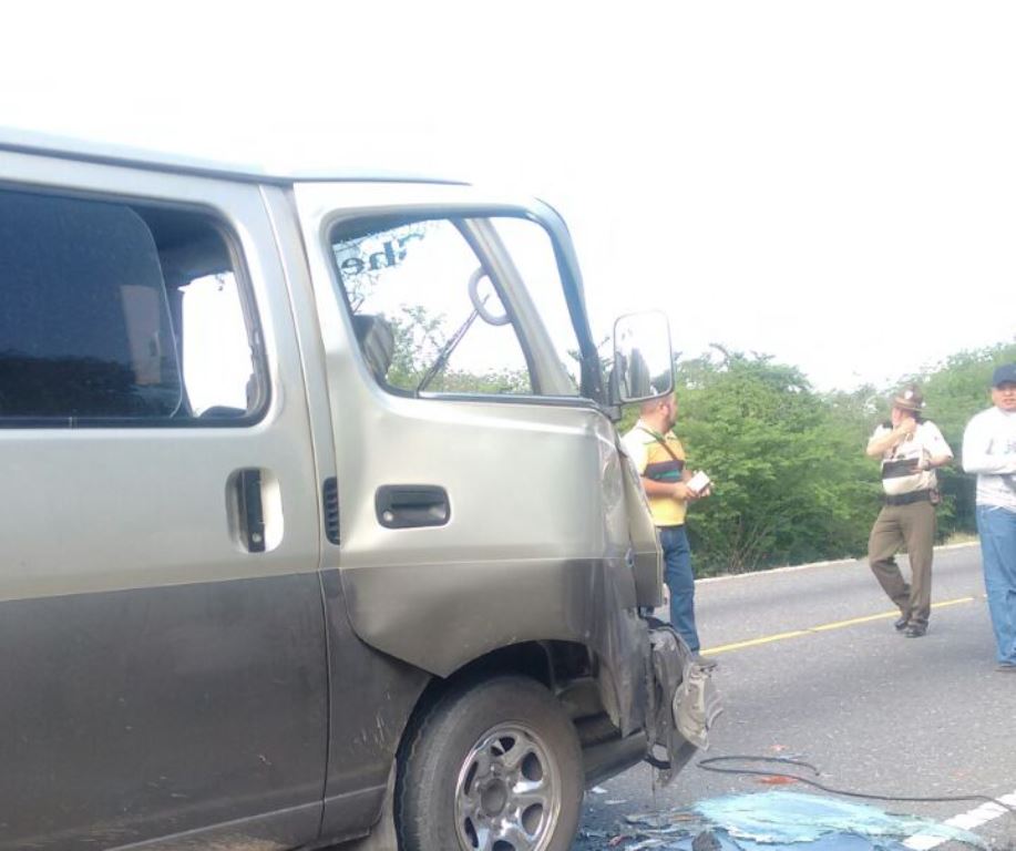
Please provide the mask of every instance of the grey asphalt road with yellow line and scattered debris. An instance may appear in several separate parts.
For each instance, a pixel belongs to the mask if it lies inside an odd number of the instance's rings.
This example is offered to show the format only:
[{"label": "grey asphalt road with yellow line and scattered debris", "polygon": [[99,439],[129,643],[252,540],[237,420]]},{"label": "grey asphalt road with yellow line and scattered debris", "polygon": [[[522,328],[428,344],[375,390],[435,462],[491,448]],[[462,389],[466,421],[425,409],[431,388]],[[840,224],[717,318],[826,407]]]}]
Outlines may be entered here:
[{"label": "grey asphalt road with yellow line and scattered debris", "polygon": [[[994,670],[978,548],[937,550],[933,576],[928,633],[912,639],[893,629],[896,614],[863,562],[699,582],[699,633],[704,653],[720,663],[725,706],[704,756],[794,756],[817,766],[827,786],[881,794],[1013,794],[1016,676]],[[587,793],[575,849],[606,848],[604,833],[616,835],[632,813],[772,789],[692,762],[654,790],[639,766]],[[978,807],[874,803],[940,821]],[[1016,848],[1016,814],[976,832]]]}]

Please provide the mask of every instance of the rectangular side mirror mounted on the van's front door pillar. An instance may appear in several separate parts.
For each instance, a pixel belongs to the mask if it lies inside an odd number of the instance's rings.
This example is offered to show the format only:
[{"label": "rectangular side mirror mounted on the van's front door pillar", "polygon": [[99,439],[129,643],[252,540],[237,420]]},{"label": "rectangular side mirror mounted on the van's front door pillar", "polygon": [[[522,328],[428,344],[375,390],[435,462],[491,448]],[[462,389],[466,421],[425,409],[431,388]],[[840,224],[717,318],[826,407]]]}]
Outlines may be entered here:
[{"label": "rectangular side mirror mounted on the van's front door pillar", "polygon": [[614,322],[610,394],[617,404],[644,402],[674,390],[670,326],[658,311],[628,314]]}]

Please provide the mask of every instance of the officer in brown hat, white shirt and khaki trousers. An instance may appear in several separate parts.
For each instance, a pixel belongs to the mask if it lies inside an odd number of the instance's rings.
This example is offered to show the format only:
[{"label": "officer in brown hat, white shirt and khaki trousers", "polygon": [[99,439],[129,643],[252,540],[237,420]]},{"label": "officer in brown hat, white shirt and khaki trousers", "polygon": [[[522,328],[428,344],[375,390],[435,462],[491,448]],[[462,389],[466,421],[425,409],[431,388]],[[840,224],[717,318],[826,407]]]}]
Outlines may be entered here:
[{"label": "officer in brown hat, white shirt and khaki trousers", "polygon": [[[870,458],[882,459],[882,511],[868,540],[868,561],[889,598],[900,607],[894,626],[907,638],[927,632],[932,607],[932,557],[935,545],[935,468],[953,459],[938,427],[921,417],[924,400],[915,387],[893,399],[891,420],[868,441]],[[904,581],[895,555],[903,545],[911,582]]]}]

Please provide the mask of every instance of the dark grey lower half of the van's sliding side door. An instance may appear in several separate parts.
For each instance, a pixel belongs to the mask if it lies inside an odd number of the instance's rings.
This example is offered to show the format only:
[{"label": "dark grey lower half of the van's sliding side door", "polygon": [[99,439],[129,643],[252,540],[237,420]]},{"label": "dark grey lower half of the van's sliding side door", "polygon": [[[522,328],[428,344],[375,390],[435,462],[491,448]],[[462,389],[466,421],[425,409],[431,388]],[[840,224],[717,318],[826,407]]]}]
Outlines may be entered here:
[{"label": "dark grey lower half of the van's sliding side door", "polygon": [[0,646],[3,851],[317,835],[317,574],[0,603]]}]

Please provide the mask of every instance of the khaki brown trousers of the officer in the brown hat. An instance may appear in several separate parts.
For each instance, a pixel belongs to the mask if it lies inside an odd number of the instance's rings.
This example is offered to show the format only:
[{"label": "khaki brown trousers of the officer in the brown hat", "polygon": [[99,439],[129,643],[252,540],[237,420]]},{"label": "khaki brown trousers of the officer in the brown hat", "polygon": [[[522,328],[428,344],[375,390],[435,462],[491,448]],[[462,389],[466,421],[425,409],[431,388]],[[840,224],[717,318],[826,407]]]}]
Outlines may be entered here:
[{"label": "khaki brown trousers of the officer in the brown hat", "polygon": [[[906,545],[911,584],[900,573],[896,552]],[[868,540],[868,561],[889,598],[910,616],[910,623],[927,626],[932,608],[932,555],[935,545],[935,506],[930,502],[884,505]]]}]

